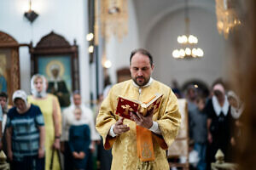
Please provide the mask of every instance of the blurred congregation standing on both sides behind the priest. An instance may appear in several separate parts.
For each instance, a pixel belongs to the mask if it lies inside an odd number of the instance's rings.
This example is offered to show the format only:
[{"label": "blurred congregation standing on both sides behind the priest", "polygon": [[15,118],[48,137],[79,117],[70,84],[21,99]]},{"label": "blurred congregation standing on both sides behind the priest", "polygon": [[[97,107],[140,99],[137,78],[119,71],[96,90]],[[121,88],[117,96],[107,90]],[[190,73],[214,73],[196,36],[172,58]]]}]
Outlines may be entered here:
[{"label": "blurred congregation standing on both sides behind the priest", "polygon": [[[37,169],[110,169],[111,150],[103,149],[96,133],[97,109],[94,113],[83,105],[79,91],[75,91],[71,105],[61,111],[56,96],[47,93],[44,76],[34,75],[31,85],[32,95],[17,90],[10,97],[13,107],[8,105],[8,95],[0,94],[0,147],[11,168],[26,169],[30,165]],[[178,87],[172,90],[188,103],[190,169],[210,169],[218,149],[224,152],[225,161],[233,161],[230,150],[242,135],[241,99],[220,80],[207,93],[195,84],[189,84],[184,91]],[[103,95],[99,99],[97,108]]]}]

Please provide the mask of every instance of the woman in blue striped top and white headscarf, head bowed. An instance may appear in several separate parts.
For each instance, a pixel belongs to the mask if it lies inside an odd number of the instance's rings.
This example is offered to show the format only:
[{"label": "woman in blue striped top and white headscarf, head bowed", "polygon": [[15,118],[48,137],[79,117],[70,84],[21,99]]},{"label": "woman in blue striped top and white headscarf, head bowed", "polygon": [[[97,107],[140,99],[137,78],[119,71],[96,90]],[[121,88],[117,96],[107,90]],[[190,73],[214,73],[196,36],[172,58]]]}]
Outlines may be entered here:
[{"label": "woman in blue striped top and white headscarf, head bowed", "polygon": [[6,122],[8,157],[12,169],[44,170],[44,117],[36,105],[26,101],[26,93],[15,91],[15,107]]}]

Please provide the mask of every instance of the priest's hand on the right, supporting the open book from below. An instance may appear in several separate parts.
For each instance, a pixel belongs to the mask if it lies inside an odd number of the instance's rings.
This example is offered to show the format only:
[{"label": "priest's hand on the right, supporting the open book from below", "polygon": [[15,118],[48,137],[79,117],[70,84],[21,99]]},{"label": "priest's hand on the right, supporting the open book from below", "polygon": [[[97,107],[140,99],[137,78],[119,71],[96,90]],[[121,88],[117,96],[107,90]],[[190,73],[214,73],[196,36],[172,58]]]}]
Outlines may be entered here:
[{"label": "priest's hand on the right, supporting the open book from below", "polygon": [[131,119],[136,122],[137,125],[141,126],[141,127],[145,127],[145,128],[150,128],[153,125],[153,120],[152,117],[154,115],[154,110],[151,110],[148,113],[148,116],[143,116],[142,114],[140,114],[139,112],[137,112],[137,114],[135,113],[131,113]]}]

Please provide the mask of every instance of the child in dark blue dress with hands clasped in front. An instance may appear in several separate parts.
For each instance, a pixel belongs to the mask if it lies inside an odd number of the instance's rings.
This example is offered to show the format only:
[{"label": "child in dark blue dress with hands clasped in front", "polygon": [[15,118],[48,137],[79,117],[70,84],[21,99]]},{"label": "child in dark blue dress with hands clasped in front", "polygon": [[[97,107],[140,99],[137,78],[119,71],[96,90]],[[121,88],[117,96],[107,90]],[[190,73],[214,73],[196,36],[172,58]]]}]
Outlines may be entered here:
[{"label": "child in dark blue dress with hands clasped in front", "polygon": [[69,129],[68,144],[73,155],[73,169],[84,170],[90,151],[90,127],[81,119],[82,110],[74,111],[74,123]]}]

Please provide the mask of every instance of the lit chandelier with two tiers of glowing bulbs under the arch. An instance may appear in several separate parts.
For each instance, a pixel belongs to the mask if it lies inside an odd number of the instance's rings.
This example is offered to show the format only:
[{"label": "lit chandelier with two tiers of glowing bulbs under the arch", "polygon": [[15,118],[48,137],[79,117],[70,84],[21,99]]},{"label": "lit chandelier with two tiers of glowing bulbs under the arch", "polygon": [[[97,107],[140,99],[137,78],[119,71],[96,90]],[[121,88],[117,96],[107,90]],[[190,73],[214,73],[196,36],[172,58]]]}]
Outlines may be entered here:
[{"label": "lit chandelier with two tiers of glowing bulbs under the arch", "polygon": [[188,0],[185,0],[185,34],[177,37],[177,42],[181,48],[174,49],[172,56],[175,59],[194,59],[201,58],[204,52],[201,48],[196,48],[198,38],[189,34],[189,8]]}]

